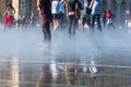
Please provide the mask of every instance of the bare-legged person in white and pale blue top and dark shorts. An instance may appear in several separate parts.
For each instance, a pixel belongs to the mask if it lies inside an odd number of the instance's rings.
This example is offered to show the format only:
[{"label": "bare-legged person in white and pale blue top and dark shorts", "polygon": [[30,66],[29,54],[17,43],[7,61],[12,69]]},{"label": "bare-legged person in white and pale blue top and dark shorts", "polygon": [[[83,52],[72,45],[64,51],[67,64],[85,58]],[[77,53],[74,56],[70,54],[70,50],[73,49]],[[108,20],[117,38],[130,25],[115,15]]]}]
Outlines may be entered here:
[{"label": "bare-legged person in white and pale blue top and dark shorts", "polygon": [[51,13],[53,20],[53,32],[56,32],[60,25],[60,3],[59,0],[52,0],[51,2]]}]

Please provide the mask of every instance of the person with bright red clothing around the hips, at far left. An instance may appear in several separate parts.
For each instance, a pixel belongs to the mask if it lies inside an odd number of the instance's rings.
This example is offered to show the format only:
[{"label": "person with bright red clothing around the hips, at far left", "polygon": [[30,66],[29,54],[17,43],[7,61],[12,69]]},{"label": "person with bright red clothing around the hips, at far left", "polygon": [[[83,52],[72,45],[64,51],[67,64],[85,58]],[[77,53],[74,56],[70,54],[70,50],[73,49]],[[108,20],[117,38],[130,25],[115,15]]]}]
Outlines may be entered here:
[{"label": "person with bright red clothing around the hips, at far left", "polygon": [[5,20],[4,20],[4,24],[8,26],[8,27],[12,27],[13,24],[14,24],[14,14],[15,14],[15,10],[12,5],[11,2],[8,3],[4,12],[3,12],[3,15],[5,15]]}]

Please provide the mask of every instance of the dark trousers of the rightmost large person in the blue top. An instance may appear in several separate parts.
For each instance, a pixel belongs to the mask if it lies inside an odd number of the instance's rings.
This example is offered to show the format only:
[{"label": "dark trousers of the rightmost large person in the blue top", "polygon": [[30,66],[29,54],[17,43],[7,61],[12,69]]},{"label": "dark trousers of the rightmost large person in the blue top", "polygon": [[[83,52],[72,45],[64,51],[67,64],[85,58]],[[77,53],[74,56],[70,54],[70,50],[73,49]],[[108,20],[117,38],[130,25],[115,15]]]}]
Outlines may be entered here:
[{"label": "dark trousers of the rightmost large person in the blue top", "polygon": [[95,22],[97,22],[97,28],[99,29],[99,30],[103,30],[102,29],[102,25],[100,25],[100,14],[92,14],[92,16],[91,16],[91,25],[92,25],[92,28],[94,29],[94,27],[95,27]]}]

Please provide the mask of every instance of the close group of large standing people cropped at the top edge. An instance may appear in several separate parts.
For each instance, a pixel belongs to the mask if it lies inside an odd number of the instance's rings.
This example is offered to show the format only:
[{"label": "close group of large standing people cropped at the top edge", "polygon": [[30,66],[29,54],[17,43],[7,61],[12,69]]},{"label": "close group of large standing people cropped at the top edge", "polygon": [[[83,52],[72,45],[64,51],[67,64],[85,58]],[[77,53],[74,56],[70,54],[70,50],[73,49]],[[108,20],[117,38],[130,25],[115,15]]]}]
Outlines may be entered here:
[{"label": "close group of large standing people cropped at the top edge", "polygon": [[[86,22],[88,26],[94,29],[95,22],[99,30],[100,25],[100,7],[103,0],[83,0],[83,4],[79,0],[37,0],[38,11],[40,13],[44,38],[47,41],[51,40],[50,23],[53,22],[53,32],[62,24],[63,16],[69,20],[69,34],[75,35],[75,29],[79,28],[79,20],[83,13],[84,25]],[[83,11],[83,12],[82,12]],[[90,17],[92,15],[92,17]],[[96,20],[96,21],[95,21]]]}]

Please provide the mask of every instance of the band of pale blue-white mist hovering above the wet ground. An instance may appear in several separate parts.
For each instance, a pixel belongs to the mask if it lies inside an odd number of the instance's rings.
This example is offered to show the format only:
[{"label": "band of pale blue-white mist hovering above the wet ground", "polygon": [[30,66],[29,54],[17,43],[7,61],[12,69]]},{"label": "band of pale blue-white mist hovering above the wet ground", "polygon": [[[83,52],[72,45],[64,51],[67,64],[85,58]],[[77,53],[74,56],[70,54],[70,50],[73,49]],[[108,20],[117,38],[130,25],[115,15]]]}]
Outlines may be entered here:
[{"label": "band of pale blue-white mist hovering above the wet ground", "polygon": [[[47,51],[39,50],[38,44],[43,42],[41,28],[21,28],[0,30],[0,54],[16,55],[20,60],[41,61],[68,55],[69,59],[94,60],[102,54],[129,53],[131,50],[131,34],[127,29],[104,29],[87,34],[76,30],[70,37],[68,29],[52,34],[51,46]],[[70,58],[72,57],[72,58]]]}]

